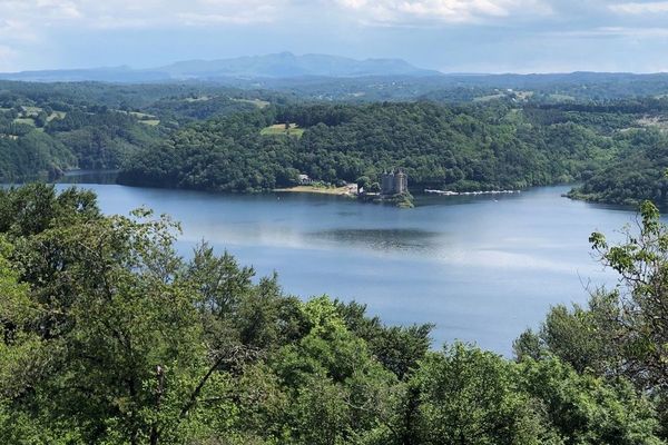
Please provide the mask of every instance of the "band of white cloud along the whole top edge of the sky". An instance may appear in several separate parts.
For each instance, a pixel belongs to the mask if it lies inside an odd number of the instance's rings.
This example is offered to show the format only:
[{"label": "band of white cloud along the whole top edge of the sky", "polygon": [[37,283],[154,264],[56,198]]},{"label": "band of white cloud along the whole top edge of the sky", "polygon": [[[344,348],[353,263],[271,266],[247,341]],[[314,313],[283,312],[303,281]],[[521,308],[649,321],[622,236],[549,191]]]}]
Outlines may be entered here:
[{"label": "band of white cloud along the whole top edge of the sky", "polygon": [[[501,23],[620,17],[656,20],[668,1],[588,0],[0,0],[0,39],[26,29],[253,24],[337,17],[360,24]],[[589,16],[589,17],[588,17]],[[608,26],[619,23],[605,23]],[[16,32],[18,30],[18,32]]]}]

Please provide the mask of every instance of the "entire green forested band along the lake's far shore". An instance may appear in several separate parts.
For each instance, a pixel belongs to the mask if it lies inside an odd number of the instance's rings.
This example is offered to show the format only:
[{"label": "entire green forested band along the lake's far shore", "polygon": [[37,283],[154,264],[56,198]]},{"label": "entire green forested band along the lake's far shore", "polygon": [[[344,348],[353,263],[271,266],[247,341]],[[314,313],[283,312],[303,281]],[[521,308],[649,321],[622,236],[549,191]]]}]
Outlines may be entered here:
[{"label": "entire green forested band along the lake's far shore", "polygon": [[[593,80],[582,76],[591,90]],[[521,79],[524,87],[556,85]],[[644,82],[639,91],[661,88]],[[204,82],[0,81],[0,180],[118,169],[126,185],[263,191],[296,185],[299,174],[373,185],[383,170],[402,167],[418,192],[578,181],[574,198],[666,205],[665,97],[619,99],[611,90],[558,100],[538,89],[488,87],[458,83],[446,90],[456,99],[431,90],[367,103]]]}]

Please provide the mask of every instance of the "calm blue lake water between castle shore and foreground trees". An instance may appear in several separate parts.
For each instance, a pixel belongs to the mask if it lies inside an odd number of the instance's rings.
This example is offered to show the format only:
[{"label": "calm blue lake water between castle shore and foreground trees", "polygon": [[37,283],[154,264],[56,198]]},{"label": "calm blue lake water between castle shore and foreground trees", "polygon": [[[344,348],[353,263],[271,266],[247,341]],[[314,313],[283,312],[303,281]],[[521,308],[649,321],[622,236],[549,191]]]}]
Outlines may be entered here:
[{"label": "calm blue lake water between castle shore and foreground trees", "polygon": [[588,237],[635,220],[562,198],[568,187],[425,198],[411,210],[314,195],[82,187],[107,214],[144,205],[181,221],[184,255],[206,239],[261,275],[277,270],[286,293],[355,299],[389,324],[435,323],[436,346],[458,338],[503,354],[550,305],[584,303],[588,283],[615,283]]}]

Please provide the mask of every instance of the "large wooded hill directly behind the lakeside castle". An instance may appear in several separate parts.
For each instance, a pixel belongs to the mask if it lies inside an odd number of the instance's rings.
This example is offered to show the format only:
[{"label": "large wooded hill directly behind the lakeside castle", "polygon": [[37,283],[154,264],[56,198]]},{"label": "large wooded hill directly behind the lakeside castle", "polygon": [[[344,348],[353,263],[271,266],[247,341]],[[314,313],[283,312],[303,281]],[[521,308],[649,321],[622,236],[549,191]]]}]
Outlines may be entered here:
[{"label": "large wooded hill directly behind the lakeside castle", "polygon": [[374,181],[399,166],[416,189],[518,189],[591,176],[617,155],[615,129],[631,121],[503,102],[288,106],[191,125],[139,151],[120,180],[256,191],[294,185],[299,172]]}]

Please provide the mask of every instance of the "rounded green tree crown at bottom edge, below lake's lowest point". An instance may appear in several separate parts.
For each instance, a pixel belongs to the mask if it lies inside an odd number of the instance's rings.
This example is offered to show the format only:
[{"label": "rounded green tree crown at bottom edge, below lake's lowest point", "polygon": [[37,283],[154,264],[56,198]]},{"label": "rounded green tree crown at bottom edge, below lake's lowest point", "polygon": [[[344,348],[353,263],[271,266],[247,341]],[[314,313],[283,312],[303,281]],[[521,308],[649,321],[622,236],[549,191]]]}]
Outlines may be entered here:
[{"label": "rounded green tree crown at bottom edge, below lake's lowest point", "polygon": [[431,354],[412,382],[421,394],[420,443],[538,444],[530,398],[515,388],[512,364],[455,344]]}]

